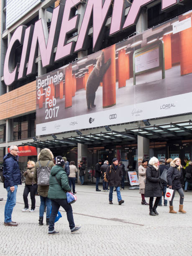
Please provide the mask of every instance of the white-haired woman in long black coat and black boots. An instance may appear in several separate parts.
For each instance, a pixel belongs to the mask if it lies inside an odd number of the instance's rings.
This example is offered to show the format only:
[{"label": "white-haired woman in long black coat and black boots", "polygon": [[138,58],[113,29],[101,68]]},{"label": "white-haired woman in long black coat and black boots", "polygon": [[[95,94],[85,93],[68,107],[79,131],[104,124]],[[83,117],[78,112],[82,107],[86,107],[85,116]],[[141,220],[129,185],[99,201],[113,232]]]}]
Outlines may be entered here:
[{"label": "white-haired woman in long black coat and black boots", "polygon": [[[158,163],[159,160],[154,156],[149,160],[148,167],[146,169],[145,197],[150,197],[149,215],[151,216],[159,215],[156,208],[162,195]],[[154,197],[156,197],[156,200],[153,207]]]}]

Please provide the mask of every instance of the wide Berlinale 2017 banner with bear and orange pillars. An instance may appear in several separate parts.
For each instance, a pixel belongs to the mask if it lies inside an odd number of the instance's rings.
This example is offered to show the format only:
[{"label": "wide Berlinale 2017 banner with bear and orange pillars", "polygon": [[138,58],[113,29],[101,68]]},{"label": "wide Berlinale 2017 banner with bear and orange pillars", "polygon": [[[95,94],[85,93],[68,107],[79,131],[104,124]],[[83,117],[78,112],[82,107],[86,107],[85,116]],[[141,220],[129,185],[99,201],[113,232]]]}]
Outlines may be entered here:
[{"label": "wide Berlinale 2017 banner with bear and orange pillars", "polygon": [[38,77],[36,134],[191,112],[192,11]]}]

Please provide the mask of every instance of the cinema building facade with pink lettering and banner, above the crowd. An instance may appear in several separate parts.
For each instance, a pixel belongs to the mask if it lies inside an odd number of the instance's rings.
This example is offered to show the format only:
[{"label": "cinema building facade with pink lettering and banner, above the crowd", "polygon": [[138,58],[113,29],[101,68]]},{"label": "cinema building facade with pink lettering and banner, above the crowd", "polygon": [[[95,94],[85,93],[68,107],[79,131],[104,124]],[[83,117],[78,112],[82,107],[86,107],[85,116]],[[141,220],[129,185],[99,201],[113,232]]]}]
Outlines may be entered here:
[{"label": "cinema building facade with pink lettering and banner, above the crowd", "polygon": [[190,0],[2,1],[0,161],[191,159],[191,42]]}]

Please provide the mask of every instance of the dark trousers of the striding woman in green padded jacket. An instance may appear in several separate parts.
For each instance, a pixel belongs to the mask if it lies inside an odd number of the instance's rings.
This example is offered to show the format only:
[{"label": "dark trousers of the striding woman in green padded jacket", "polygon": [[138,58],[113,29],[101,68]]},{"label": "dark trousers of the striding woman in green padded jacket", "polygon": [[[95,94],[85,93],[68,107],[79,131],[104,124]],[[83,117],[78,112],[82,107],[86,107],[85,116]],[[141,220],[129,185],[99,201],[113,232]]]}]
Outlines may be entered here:
[{"label": "dark trousers of the striding woman in green padded jacket", "polygon": [[72,206],[68,204],[67,199],[51,199],[51,216],[49,218],[49,231],[54,231],[54,221],[59,211],[59,207],[62,206],[67,213],[67,220],[69,222],[69,228],[73,229],[75,227],[74,220],[73,220],[73,210]]}]

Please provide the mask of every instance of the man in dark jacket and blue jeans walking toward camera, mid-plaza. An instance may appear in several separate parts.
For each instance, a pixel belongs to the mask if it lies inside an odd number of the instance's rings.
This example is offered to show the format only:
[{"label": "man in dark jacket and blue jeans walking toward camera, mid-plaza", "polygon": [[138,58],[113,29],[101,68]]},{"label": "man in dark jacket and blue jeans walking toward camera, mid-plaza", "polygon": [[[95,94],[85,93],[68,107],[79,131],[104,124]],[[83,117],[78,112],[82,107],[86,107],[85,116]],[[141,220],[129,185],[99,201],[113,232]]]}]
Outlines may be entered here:
[{"label": "man in dark jacket and blue jeans walking toward camera, mid-plaza", "polygon": [[122,169],[118,165],[118,159],[113,158],[113,164],[108,166],[107,172],[106,172],[106,177],[109,182],[110,186],[110,192],[109,192],[109,203],[110,205],[113,205],[113,188],[116,188],[117,192],[117,197],[118,197],[118,203],[119,205],[124,203],[124,200],[122,200],[121,195],[120,195],[120,182],[122,179]]}]

